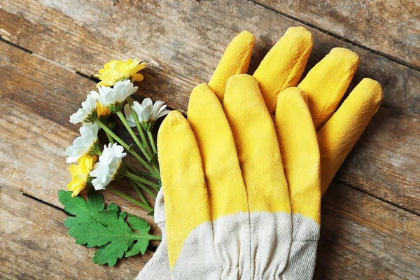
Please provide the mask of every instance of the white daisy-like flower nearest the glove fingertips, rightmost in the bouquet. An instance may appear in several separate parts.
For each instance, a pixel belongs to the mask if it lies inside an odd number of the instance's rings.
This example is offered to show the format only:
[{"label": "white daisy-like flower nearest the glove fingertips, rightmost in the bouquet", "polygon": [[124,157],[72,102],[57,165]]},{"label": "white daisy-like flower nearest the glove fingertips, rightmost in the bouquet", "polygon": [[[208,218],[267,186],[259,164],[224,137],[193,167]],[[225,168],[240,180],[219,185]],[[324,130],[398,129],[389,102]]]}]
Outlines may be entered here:
[{"label": "white daisy-like flower nearest the glove fingertips, rightmost in the bouquet", "polygon": [[[141,104],[137,101],[133,102],[131,106],[132,111],[137,114],[139,122],[147,130],[151,130],[153,125],[155,125],[158,118],[167,115],[170,111],[166,109],[165,102],[158,100],[153,104],[152,99],[145,98]],[[132,116],[132,111],[128,107],[128,104],[124,107],[125,117],[127,118],[127,123],[130,126],[135,126],[134,117]]]}]

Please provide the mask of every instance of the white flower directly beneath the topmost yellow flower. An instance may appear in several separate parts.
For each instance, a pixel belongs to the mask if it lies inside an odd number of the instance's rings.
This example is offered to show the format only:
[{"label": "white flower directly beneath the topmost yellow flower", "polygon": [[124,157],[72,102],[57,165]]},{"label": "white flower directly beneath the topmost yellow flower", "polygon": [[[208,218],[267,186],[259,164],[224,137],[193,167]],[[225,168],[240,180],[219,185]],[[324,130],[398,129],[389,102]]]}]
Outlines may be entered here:
[{"label": "white flower directly beneath the topmost yellow flower", "polygon": [[125,99],[137,91],[139,87],[134,87],[130,80],[117,82],[113,87],[100,86],[99,93],[92,91],[90,94],[97,101],[109,109],[112,113],[117,113],[123,109]]}]

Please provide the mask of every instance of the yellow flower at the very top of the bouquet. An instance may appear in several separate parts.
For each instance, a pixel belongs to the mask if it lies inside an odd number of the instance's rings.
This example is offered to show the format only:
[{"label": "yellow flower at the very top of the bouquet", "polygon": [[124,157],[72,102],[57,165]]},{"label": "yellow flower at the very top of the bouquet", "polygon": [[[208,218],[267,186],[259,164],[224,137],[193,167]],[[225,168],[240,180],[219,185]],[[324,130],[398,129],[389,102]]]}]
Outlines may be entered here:
[{"label": "yellow flower at the very top of the bouquet", "polygon": [[94,75],[99,78],[101,82],[97,84],[97,87],[104,85],[106,87],[112,87],[118,80],[130,79],[134,83],[135,81],[143,80],[143,75],[137,73],[141,69],[146,67],[145,62],[139,61],[139,59],[128,59],[127,62],[124,60],[111,60],[104,65],[104,69],[99,70],[99,74]]}]

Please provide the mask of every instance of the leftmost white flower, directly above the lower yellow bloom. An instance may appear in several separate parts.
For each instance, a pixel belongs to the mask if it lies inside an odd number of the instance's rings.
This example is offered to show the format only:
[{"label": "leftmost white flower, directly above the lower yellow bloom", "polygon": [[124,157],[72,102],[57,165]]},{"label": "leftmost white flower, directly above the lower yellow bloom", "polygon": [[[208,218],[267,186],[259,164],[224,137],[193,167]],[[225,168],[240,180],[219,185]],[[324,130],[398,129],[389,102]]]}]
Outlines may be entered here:
[{"label": "leftmost white flower, directly above the lower yellow bloom", "polygon": [[98,144],[98,131],[99,125],[96,123],[89,124],[84,123],[83,127],[80,127],[80,137],[77,137],[73,141],[73,146],[66,148],[66,162],[77,162],[77,160],[92,151],[92,148]]}]

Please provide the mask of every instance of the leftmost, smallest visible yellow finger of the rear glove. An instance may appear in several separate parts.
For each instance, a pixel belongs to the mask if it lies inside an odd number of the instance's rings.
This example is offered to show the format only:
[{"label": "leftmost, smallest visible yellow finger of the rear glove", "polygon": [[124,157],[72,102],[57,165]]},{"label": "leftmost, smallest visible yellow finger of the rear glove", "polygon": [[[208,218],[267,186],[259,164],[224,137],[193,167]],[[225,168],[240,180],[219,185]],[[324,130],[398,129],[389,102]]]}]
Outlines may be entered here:
[{"label": "leftmost, smallest visible yellow finger of the rear glove", "polygon": [[226,83],[230,76],[248,72],[255,38],[249,31],[242,31],[226,48],[221,61],[218,63],[209,86],[214,91],[219,101],[223,102]]}]

